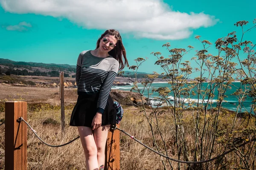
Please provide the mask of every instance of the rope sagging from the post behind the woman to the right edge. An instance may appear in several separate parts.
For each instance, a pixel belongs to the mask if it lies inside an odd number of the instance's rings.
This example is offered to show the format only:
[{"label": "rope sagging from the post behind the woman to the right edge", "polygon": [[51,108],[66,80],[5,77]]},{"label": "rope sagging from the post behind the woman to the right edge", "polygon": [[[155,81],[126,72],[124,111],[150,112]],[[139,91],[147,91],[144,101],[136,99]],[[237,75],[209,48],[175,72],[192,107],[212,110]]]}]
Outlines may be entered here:
[{"label": "rope sagging from the post behind the woman to the right edge", "polygon": [[[143,144],[141,141],[139,141],[138,139],[134,138],[134,136],[131,136],[129,133],[125,132],[124,130],[119,129],[118,127],[116,127],[116,129],[117,129],[117,130],[120,130],[122,133],[125,133],[127,136],[130,136],[131,139],[134,139],[136,142],[142,144],[144,147],[148,148],[148,149],[151,150],[152,152],[157,153],[158,155],[163,156],[163,157],[166,158],[166,159],[170,159],[170,160],[172,160],[172,161],[176,161],[176,162],[180,162],[180,163],[185,163],[185,164],[202,164],[202,163],[206,163],[206,162],[209,162],[209,161],[213,161],[213,160],[215,160],[215,159],[219,159],[219,158],[221,158],[222,156],[227,155],[228,153],[230,153],[230,152],[236,150],[236,148],[230,149],[230,150],[228,150],[227,152],[222,153],[222,154],[219,155],[219,156],[216,156],[216,157],[214,157],[214,158],[212,158],[212,159],[208,159],[208,160],[204,160],[204,161],[182,161],[182,160],[170,158],[169,156],[166,156],[166,155],[164,155],[163,153],[159,153],[158,151],[152,149],[151,147],[148,147],[147,145]],[[243,144],[240,144],[238,147],[242,147],[242,146],[244,146],[245,144],[248,144],[248,143],[253,142],[253,141],[256,141],[256,138],[254,138],[254,139],[252,139],[252,140],[250,140],[250,141],[248,141],[248,142],[244,142]]]}]

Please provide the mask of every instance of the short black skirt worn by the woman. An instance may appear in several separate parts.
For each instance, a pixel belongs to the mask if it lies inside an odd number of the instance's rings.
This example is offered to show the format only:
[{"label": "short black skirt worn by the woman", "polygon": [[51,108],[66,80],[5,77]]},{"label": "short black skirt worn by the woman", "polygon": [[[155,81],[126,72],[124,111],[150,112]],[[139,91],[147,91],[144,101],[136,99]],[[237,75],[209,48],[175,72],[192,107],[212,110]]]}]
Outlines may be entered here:
[{"label": "short black skirt worn by the woman", "polygon": [[[97,112],[97,102],[99,93],[92,95],[79,95],[76,105],[70,118],[70,126],[92,127],[93,118]],[[102,126],[115,125],[116,109],[111,96],[108,96],[108,102],[102,114]]]}]

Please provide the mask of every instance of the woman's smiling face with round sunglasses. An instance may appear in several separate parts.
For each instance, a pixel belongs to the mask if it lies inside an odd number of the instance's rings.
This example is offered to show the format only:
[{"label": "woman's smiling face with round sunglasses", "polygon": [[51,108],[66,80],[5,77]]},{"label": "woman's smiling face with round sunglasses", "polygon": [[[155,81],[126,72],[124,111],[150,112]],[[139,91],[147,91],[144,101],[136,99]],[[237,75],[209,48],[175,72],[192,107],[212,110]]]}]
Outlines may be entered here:
[{"label": "woman's smiling face with round sunglasses", "polygon": [[116,42],[117,39],[115,38],[115,36],[106,34],[99,42],[99,50],[107,53],[115,48],[114,45],[116,44]]}]

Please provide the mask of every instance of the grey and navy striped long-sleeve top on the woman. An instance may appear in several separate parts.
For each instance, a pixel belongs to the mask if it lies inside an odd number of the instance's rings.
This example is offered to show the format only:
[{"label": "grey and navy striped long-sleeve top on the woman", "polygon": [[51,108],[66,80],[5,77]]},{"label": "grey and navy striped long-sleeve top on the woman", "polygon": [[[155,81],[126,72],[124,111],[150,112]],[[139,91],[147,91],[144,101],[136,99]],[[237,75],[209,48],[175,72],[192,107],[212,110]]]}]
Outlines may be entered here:
[{"label": "grey and navy striped long-sleeve top on the woman", "polygon": [[78,95],[99,93],[97,112],[104,113],[119,62],[113,57],[96,57],[90,51],[79,54],[76,65]]}]

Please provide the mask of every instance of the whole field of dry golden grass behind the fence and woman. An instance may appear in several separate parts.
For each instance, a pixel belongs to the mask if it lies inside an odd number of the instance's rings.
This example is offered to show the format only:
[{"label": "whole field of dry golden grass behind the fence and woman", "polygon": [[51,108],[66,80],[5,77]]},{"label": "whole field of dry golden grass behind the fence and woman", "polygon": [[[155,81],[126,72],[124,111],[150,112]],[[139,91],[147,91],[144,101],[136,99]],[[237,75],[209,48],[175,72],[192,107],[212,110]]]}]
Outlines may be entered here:
[{"label": "whole field of dry golden grass behind the fence and woman", "polygon": [[[21,87],[12,85],[0,84],[0,107],[7,100],[23,100],[28,102],[28,122],[33,127],[38,135],[47,143],[52,145],[63,144],[78,136],[76,127],[70,127],[69,119],[76,103],[77,95],[76,89],[65,88],[65,115],[66,128],[65,136],[61,135],[60,127],[60,99],[59,88],[42,88],[42,87]],[[175,125],[171,113],[167,108],[162,108],[158,111],[158,126],[150,127],[147,122],[144,112],[141,112],[135,106],[123,106],[124,116],[120,128],[127,131],[137,139],[141,140],[150,147],[156,149],[151,135],[151,128],[153,128],[154,139],[160,148],[160,152],[168,153],[172,158],[177,159],[177,151],[175,146]],[[0,109],[0,120],[4,120],[5,113]],[[147,108],[145,112],[150,115],[152,110]],[[231,120],[234,117],[233,113],[221,113],[220,127],[230,130]],[[194,152],[194,122],[189,111],[183,113],[184,130],[186,131],[186,139],[189,155],[188,159],[193,160]],[[152,121],[156,121],[152,119]],[[236,130],[243,131],[246,128],[245,122],[249,125],[254,124],[255,118],[238,117],[236,122]],[[248,125],[248,124],[247,124]],[[5,125],[0,126],[0,170],[4,169],[4,128]],[[159,129],[157,129],[159,128]],[[162,136],[157,131],[162,132]],[[228,134],[227,134],[228,135]],[[223,137],[223,136],[221,136]],[[165,139],[166,149],[162,138]],[[216,138],[215,151],[212,157],[222,153],[224,146],[221,143],[222,138]],[[224,140],[224,139],[223,139]],[[219,142],[218,142],[219,141]],[[120,133],[120,147],[121,147],[121,169],[122,170],[163,170],[163,162],[166,164],[166,169],[177,169],[178,164],[171,162],[172,168],[168,166],[168,160],[161,158],[150,150],[146,149],[139,143],[131,140],[130,137]],[[255,148],[255,147],[254,147]],[[255,149],[252,150],[255,154]],[[184,160],[183,157],[180,158]],[[240,168],[239,162],[236,162],[237,154],[230,153],[225,156],[226,161],[233,161],[232,166],[226,166],[219,163],[218,169],[233,169]],[[28,130],[28,169],[29,170],[84,170],[85,161],[84,153],[81,147],[80,140],[68,144],[64,147],[48,147],[42,144],[34,134]],[[252,161],[250,161],[252,162]],[[231,163],[230,163],[231,164]],[[216,161],[208,164],[208,169],[213,170],[216,167]],[[203,164],[204,169],[205,164]],[[233,168],[232,168],[233,167]],[[242,167],[242,166],[241,166]],[[252,165],[250,168],[252,169]],[[189,167],[185,164],[181,165],[181,169],[198,169],[196,167]]]}]

